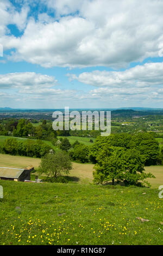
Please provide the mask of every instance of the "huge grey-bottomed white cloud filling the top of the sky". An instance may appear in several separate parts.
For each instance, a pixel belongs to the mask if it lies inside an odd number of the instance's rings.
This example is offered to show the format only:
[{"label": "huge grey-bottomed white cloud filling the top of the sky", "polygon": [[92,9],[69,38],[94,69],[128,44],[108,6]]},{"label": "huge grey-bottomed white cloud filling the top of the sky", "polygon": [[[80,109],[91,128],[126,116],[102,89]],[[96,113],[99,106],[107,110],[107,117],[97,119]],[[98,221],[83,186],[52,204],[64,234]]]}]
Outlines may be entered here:
[{"label": "huge grey-bottomed white cloud filling the top of the sky", "polygon": [[[160,0],[41,0],[41,3],[47,4],[54,17],[30,16],[20,38],[6,33],[2,36],[0,42],[5,49],[15,48],[12,60],[26,60],[48,68],[96,65],[120,68],[159,54],[163,42]],[[22,9],[13,22],[23,28],[26,14],[27,9]],[[6,10],[1,17],[9,23]]]}]

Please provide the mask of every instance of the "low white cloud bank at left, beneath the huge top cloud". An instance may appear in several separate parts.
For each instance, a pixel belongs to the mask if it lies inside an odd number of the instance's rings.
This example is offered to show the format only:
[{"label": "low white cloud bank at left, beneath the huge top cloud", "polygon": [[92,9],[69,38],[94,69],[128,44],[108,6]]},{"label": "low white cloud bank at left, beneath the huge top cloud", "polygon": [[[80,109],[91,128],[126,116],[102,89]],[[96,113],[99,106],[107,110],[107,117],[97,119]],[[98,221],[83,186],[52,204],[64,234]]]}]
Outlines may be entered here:
[{"label": "low white cloud bank at left, beneath the huge top cloud", "polygon": [[[13,99],[23,99],[26,101],[40,99],[44,101],[51,101],[54,97],[57,100],[76,98],[74,90],[64,90],[54,88],[57,86],[55,77],[36,74],[35,72],[10,73],[0,75],[0,89],[2,91],[1,97],[12,94]],[[56,100],[56,98],[55,98]]]}]

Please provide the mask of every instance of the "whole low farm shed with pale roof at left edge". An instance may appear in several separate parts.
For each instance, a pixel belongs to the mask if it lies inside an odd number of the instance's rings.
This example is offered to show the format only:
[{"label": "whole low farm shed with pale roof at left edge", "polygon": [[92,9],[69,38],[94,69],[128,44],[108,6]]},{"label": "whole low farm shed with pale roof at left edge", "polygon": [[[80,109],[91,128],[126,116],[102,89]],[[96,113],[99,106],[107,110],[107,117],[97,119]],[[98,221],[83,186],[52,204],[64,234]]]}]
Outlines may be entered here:
[{"label": "whole low farm shed with pale roof at left edge", "polygon": [[34,169],[33,166],[27,166],[22,169],[0,167],[0,179],[14,180],[14,181],[30,180],[30,172],[33,169]]}]

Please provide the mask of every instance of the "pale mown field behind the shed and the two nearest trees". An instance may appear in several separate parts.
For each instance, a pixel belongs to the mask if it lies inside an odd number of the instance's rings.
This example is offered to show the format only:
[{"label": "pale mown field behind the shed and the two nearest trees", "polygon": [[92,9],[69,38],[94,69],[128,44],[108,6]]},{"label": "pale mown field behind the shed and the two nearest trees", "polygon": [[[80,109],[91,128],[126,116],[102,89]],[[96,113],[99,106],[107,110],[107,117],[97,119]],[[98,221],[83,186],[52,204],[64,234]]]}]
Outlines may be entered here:
[{"label": "pale mown field behind the shed and the two nearest trees", "polygon": [[[32,164],[35,170],[39,167],[40,159],[27,156],[11,156],[0,154],[0,167],[23,168]],[[153,188],[158,188],[163,185],[163,166],[147,166],[146,172],[154,174],[156,179],[147,179]],[[73,163],[73,169],[69,176],[73,177],[74,182],[80,184],[89,184],[92,182],[93,164],[90,163]]]}]

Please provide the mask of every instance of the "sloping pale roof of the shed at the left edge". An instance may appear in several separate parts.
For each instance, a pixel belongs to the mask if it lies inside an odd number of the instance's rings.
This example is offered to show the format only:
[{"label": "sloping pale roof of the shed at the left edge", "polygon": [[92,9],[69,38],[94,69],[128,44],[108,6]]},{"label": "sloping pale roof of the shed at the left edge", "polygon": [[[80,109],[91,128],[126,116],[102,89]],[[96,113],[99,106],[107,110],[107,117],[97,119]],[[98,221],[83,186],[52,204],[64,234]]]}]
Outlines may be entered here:
[{"label": "sloping pale roof of the shed at the left edge", "polygon": [[18,179],[24,169],[0,167],[0,178]]}]

